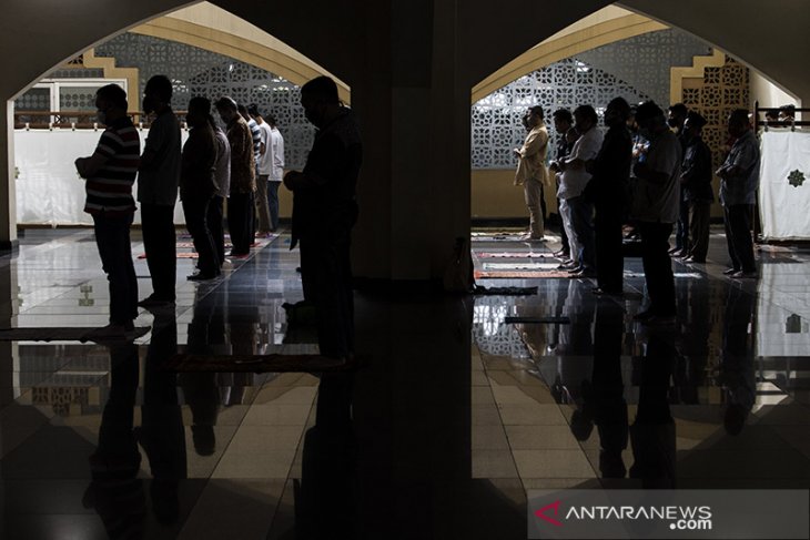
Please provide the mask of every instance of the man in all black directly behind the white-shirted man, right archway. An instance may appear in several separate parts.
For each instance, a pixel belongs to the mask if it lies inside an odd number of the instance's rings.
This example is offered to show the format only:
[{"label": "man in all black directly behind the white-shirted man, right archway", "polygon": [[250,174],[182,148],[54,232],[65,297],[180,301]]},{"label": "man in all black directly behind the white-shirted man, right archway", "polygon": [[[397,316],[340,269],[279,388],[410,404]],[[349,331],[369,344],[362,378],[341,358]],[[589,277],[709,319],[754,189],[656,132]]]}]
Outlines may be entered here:
[{"label": "man in all black directly behind the white-shirted man, right archway", "polygon": [[632,139],[627,130],[630,105],[622,98],[608,103],[605,125],[608,132],[596,159],[588,163],[594,177],[586,196],[596,207],[596,283],[595,294],[621,294],[624,255],[621,222],[626,213],[627,183],[632,161]]}]

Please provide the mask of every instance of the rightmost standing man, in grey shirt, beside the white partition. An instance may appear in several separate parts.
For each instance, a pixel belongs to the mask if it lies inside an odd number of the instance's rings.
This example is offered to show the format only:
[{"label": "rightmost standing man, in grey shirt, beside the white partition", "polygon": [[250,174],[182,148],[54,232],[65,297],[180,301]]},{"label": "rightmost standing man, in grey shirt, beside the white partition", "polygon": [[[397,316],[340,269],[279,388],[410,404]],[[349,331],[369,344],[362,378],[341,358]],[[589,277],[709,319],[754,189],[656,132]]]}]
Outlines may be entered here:
[{"label": "rightmost standing man, in grey shirt, beside the white partition", "polygon": [[751,131],[748,111],[737,109],[728,119],[728,132],[735,139],[726,162],[717,170],[720,176],[720,203],[726,217],[731,277],[757,277],[751,240],[751,217],[759,189],[759,144]]}]

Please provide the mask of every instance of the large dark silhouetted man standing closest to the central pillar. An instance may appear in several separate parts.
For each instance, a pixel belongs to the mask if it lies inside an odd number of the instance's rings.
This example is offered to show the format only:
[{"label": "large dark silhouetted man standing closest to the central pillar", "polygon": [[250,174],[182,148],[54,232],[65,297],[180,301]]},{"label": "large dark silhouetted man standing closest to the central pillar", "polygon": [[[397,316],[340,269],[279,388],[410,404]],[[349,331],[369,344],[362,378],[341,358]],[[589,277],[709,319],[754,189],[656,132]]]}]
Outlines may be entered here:
[{"label": "large dark silhouetted man standing closest to the central pillar", "polygon": [[301,243],[304,298],[317,308],[321,354],[345,359],[354,349],[350,246],[363,145],[332,79],[318,77],[304,84],[301,104],[317,133],[303,172],[284,176],[294,195],[291,247]]}]

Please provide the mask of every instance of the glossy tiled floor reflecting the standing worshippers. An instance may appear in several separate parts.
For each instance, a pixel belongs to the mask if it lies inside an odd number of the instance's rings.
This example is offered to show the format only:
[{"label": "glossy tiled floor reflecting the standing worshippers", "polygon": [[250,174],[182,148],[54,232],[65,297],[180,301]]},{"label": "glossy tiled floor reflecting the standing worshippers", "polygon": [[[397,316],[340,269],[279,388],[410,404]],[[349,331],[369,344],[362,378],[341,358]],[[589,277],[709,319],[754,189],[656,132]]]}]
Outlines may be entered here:
[{"label": "glossy tiled floor reflecting the standing worshippers", "polygon": [[[760,277],[735,281],[715,233],[708,264],[675,263],[675,326],[632,320],[637,258],[624,297],[564,278],[361,291],[365,364],[335,374],[162,369],[314,338],[282,308],[302,299],[288,236],[216,282],[179,259],[175,309],[142,310],[132,345],[0,342],[0,538],[523,539],[530,489],[806,489],[810,251],[765,246]],[[0,287],[0,327],[108,322],[88,231],[27,231]]]}]

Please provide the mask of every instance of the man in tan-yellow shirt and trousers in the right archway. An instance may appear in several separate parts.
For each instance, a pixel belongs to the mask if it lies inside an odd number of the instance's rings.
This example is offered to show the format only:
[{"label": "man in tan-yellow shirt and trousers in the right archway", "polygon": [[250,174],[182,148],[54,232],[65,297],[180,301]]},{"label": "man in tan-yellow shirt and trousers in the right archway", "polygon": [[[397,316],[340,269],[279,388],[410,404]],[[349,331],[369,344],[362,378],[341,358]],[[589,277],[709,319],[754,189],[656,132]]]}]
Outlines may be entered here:
[{"label": "man in tan-yellow shirt and trousers in the right archway", "polygon": [[543,121],[543,108],[530,108],[524,116],[528,130],[523,146],[515,149],[517,172],[515,185],[523,185],[526,206],[529,210],[529,232],[526,240],[541,241],[545,217],[543,184],[546,183],[546,154],[548,153],[548,130]]}]

